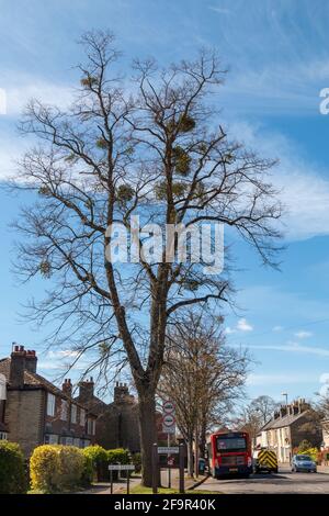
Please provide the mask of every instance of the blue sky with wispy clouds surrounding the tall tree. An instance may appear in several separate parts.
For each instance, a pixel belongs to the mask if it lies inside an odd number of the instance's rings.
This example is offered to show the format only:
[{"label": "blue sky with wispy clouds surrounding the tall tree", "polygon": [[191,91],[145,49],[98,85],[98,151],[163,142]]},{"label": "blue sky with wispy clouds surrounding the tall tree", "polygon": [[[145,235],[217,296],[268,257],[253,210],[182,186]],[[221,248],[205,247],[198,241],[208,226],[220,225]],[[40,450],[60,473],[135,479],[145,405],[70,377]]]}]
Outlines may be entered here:
[{"label": "blue sky with wispy clouds surrounding the tall tree", "polygon": [[[27,142],[19,113],[31,97],[65,105],[81,58],[76,44],[92,27],[111,29],[128,66],[135,56],[162,64],[215,47],[229,74],[216,102],[230,134],[264,156],[279,157],[272,180],[286,205],[287,248],[281,272],[261,267],[236,240],[236,313],[227,339],[250,347],[257,360],[249,396],[310,397],[329,378],[329,115],[319,92],[329,88],[327,0],[0,0],[0,180],[14,171]],[[18,285],[10,272],[15,235],[8,223],[22,200],[0,191],[0,356],[13,340],[42,352],[43,332],[18,323],[20,304],[44,283]],[[54,374],[56,354],[41,354]]]}]

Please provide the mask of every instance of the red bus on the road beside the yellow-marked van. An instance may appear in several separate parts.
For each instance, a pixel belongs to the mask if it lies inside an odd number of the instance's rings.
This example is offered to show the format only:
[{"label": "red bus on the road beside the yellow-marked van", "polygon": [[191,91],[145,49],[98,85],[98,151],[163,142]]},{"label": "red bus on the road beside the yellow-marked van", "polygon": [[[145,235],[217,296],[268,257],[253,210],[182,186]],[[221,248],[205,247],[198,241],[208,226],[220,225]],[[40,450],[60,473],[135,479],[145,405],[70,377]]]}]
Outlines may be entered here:
[{"label": "red bus on the road beside the yellow-marked van", "polygon": [[209,470],[215,479],[252,473],[251,442],[246,431],[218,431],[207,442]]}]

